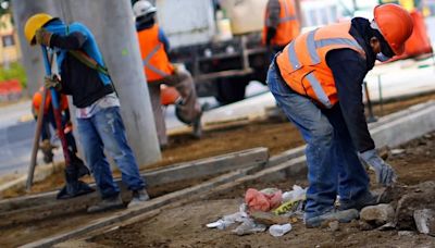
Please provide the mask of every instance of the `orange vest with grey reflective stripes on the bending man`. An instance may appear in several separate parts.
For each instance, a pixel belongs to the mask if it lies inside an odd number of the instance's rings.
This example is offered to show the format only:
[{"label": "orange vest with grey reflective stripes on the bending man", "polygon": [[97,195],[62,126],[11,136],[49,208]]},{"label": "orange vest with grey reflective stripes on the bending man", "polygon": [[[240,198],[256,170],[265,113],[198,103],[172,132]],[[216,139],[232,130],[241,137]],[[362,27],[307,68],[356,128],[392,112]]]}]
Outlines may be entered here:
[{"label": "orange vest with grey reflective stripes on the bending man", "polygon": [[331,109],[338,96],[334,75],[326,63],[327,52],[349,48],[365,59],[363,48],[349,30],[350,22],[334,24],[300,35],[286,46],[276,63],[287,85]]}]

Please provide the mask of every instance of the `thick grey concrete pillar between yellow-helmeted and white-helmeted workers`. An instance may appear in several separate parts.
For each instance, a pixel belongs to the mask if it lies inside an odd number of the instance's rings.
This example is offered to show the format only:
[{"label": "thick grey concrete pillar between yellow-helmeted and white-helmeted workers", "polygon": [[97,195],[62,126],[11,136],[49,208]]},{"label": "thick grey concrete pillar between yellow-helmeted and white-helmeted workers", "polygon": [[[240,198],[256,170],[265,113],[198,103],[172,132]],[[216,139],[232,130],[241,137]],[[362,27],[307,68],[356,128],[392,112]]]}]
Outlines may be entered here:
[{"label": "thick grey concrete pillar between yellow-helmeted and white-helmeted workers", "polygon": [[[39,1],[39,0],[38,0]],[[139,165],[161,159],[129,0],[61,0],[64,21],[94,33],[121,101],[127,139]]]}]

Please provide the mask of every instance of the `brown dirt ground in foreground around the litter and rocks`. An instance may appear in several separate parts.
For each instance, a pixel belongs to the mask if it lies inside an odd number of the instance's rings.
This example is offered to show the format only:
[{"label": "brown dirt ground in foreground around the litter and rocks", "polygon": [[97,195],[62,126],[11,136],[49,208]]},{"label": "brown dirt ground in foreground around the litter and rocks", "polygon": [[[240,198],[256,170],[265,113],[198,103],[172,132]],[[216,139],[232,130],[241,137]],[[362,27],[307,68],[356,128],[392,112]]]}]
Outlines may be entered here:
[{"label": "brown dirt ground in foreground around the litter and rocks", "polygon": [[[412,140],[389,152],[387,161],[399,175],[399,183],[419,184],[434,179],[435,175],[435,133]],[[371,174],[373,182],[373,174]],[[306,186],[303,178],[285,182],[243,185],[232,191],[196,201],[179,208],[170,209],[140,223],[120,227],[89,241],[96,246],[109,247],[435,247],[435,237],[414,232],[360,231],[356,222],[340,224],[338,231],[311,228],[301,221],[283,237],[273,237],[268,232],[247,236],[231,233],[233,225],[224,231],[210,230],[207,223],[222,215],[238,211],[247,188],[279,187],[288,190],[294,184]],[[374,186],[374,185],[373,185]]]}]

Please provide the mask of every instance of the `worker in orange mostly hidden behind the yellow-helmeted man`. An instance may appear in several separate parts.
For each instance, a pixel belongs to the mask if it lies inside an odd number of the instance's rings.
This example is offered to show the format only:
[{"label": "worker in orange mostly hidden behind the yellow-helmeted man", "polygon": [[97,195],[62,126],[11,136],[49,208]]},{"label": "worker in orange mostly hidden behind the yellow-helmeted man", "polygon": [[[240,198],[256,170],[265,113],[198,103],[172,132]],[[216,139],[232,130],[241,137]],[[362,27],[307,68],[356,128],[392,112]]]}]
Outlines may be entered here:
[{"label": "worker in orange mostly hidden behind the yellow-helmeted man", "polygon": [[[54,111],[51,104],[51,92],[47,91],[46,102],[42,104],[44,92],[45,92],[44,87],[41,87],[39,88],[38,91],[34,94],[32,101],[32,112],[34,113],[34,117],[36,121],[38,119],[39,108],[41,108],[41,106],[44,108],[42,129],[41,129],[42,142],[40,145],[40,149],[44,153],[44,161],[46,163],[51,163],[53,161],[52,150],[57,148],[57,146],[50,142],[51,138],[50,125],[53,127],[54,131],[57,129],[57,126],[54,120]],[[64,126],[64,134],[66,138],[66,144],[69,146],[67,150],[70,152],[72,165],[76,166],[76,169],[78,170],[78,177],[88,175],[90,174],[89,170],[87,169],[83,160],[77,157],[77,145],[75,142],[75,138],[73,135],[73,127],[70,119],[71,117],[70,109],[69,109],[67,98],[65,95],[61,95],[59,106],[61,109],[62,124]]]}]

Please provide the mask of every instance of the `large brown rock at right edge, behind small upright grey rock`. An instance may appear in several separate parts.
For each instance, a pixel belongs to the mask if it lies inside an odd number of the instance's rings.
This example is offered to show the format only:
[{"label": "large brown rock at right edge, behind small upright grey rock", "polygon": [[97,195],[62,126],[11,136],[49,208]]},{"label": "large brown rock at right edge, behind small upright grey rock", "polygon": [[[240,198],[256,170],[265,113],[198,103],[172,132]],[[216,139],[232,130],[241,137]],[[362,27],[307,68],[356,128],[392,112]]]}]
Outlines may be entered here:
[{"label": "large brown rock at right edge, behind small upright grey rock", "polygon": [[398,230],[417,230],[414,211],[435,209],[435,182],[428,181],[410,187],[397,202],[395,222]]}]

